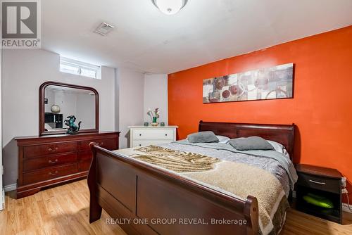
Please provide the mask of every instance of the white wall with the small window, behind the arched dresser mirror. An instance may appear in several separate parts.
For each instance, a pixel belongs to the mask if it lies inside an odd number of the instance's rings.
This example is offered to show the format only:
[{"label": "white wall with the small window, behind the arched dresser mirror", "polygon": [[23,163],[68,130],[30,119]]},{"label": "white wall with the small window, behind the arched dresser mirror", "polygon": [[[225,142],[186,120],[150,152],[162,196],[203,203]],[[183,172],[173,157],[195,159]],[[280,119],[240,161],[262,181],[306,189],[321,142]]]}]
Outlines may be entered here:
[{"label": "white wall with the small window, behind the arched dresser mirror", "polygon": [[39,86],[46,81],[94,87],[99,92],[99,130],[115,129],[115,69],[102,67],[101,80],[59,72],[59,55],[40,49],[5,49],[2,61],[4,185],[15,184],[15,136],[39,133]]}]

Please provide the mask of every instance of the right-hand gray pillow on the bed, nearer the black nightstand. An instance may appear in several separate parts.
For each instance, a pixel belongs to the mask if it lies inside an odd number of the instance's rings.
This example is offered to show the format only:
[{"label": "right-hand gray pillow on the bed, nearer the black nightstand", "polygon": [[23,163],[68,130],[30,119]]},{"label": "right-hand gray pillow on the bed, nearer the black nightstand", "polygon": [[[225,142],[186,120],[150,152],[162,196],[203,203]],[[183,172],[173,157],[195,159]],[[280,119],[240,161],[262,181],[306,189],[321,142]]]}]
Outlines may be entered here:
[{"label": "right-hand gray pillow on the bed, nearer the black nightstand", "polygon": [[274,147],[265,139],[259,136],[248,138],[230,139],[229,144],[237,150],[273,150]]}]

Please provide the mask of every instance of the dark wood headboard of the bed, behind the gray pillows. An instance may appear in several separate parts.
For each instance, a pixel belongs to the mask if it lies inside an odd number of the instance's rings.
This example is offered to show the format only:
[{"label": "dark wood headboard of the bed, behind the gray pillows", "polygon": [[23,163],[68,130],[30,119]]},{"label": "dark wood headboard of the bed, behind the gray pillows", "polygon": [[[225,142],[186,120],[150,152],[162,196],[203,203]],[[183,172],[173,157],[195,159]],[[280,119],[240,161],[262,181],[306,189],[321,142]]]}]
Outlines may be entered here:
[{"label": "dark wood headboard of the bed, behind the gray pillows", "polygon": [[231,139],[239,137],[260,136],[264,139],[282,144],[294,159],[295,125],[251,124],[235,122],[199,122],[199,132],[213,131],[217,135]]}]

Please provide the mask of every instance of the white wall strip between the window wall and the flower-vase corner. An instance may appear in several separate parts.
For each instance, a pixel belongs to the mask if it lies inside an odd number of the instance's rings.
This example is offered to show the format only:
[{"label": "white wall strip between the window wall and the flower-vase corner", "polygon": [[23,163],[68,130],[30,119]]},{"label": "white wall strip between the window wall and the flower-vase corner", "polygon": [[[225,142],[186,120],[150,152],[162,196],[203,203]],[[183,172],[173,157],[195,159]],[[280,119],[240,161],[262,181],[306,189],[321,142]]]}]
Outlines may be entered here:
[{"label": "white wall strip between the window wall and the flower-vase corner", "polygon": [[118,68],[116,71],[120,148],[127,148],[130,146],[128,126],[143,124],[144,74],[127,68]]}]

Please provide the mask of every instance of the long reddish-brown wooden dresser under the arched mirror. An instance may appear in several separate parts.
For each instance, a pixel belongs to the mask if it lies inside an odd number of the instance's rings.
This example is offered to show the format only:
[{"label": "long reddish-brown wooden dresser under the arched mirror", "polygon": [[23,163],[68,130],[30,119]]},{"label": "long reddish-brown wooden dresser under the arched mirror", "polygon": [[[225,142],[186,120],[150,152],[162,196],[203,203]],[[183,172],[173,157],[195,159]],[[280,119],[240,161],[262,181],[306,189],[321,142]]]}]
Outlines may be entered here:
[{"label": "long reddish-brown wooden dresser under the arched mirror", "polygon": [[72,179],[87,177],[92,160],[89,143],[118,149],[120,132],[60,134],[15,138],[18,145],[17,198]]}]

